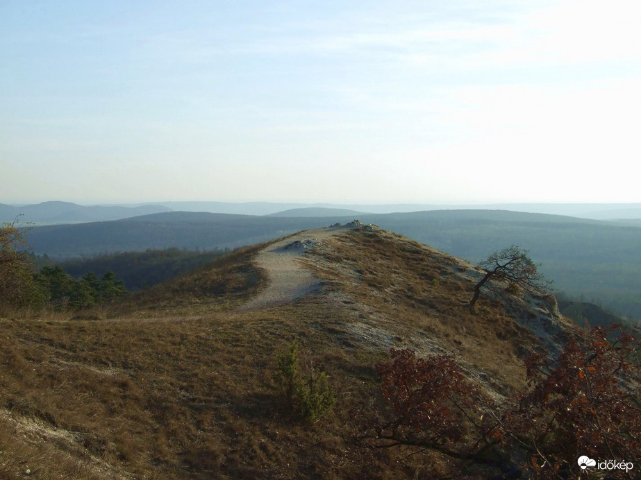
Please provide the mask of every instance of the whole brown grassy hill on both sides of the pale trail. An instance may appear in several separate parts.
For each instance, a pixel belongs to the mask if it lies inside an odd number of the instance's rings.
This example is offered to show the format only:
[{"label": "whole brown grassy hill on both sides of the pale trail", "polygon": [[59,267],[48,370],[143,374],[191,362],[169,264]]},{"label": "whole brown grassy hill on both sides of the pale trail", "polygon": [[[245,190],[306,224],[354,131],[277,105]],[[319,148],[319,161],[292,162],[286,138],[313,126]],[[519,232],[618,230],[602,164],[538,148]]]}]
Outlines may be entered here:
[{"label": "whole brown grassy hill on both sides of the pale trail", "polygon": [[[399,463],[406,452],[349,442],[351,411],[373,401],[373,365],[390,347],[453,352],[500,393],[522,382],[518,357],[535,338],[498,300],[467,313],[472,283],[457,259],[347,232],[308,253],[322,295],[229,311],[264,281],[256,251],[126,300],[119,320],[1,319],[0,478],[412,478],[424,457]],[[127,318],[136,305],[165,320]],[[293,340],[338,393],[315,424],[272,379]]]}]

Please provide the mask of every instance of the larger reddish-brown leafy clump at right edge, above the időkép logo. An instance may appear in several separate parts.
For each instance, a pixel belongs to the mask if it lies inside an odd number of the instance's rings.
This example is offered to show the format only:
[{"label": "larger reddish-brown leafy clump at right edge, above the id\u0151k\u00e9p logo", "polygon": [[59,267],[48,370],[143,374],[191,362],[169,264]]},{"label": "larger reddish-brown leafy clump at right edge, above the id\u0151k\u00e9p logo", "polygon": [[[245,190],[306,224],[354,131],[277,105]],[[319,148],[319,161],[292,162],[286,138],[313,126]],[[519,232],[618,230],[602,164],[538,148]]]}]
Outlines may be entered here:
[{"label": "larger reddish-brown leafy clump at right edge, above the id\u0151k\u00e9p logo", "polygon": [[630,461],[641,470],[640,345],[618,326],[574,338],[558,359],[526,361],[531,391],[504,424],[535,464],[576,468],[576,459]]}]

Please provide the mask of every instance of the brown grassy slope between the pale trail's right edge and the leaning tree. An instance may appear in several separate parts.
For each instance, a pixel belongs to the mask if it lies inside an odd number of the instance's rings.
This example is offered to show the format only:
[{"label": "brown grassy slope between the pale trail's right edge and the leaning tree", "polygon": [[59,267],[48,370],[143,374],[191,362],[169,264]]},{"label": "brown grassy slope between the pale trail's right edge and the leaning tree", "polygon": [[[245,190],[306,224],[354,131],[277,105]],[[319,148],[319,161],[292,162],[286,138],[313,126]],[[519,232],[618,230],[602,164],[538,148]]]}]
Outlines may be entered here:
[{"label": "brown grassy slope between the pale trail's right edge and the leaning tree", "polygon": [[[549,334],[531,328],[540,318],[523,293],[485,294],[471,314],[481,271],[399,234],[378,228],[347,232],[308,252],[306,263],[330,291],[347,298],[356,321],[343,329],[361,346],[454,354],[472,377],[498,393],[522,386],[524,355],[540,348],[542,333]],[[572,328],[547,311],[542,316],[556,331]]]}]

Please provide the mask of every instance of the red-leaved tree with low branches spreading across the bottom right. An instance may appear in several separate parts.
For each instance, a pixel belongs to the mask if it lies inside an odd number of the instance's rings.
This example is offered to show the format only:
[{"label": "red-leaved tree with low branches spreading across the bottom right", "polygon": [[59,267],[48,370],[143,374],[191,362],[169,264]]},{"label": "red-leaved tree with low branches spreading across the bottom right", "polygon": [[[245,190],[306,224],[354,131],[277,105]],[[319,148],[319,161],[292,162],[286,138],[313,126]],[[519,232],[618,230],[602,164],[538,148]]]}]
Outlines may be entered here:
[{"label": "red-leaved tree with low branches spreading across the bottom right", "polygon": [[581,456],[626,461],[636,470],[615,472],[617,478],[636,478],[640,355],[638,338],[620,326],[595,327],[569,341],[557,359],[526,359],[527,391],[498,403],[466,379],[452,357],[392,350],[392,361],[376,366],[385,406],[363,415],[366,425],[355,440],[438,452],[458,460],[456,474],[467,478],[516,479],[526,472],[577,478],[590,473],[579,467]]}]

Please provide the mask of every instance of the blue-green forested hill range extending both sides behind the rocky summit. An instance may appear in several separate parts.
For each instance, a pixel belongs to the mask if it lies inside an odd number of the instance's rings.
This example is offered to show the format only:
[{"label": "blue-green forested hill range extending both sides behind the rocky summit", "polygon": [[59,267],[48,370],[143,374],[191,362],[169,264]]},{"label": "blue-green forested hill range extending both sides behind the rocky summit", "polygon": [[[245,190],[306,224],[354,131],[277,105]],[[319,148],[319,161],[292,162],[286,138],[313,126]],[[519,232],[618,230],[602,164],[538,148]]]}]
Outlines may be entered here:
[{"label": "blue-green forested hill range extending both sides behind the rocky summit", "polygon": [[[168,212],[121,221],[34,228],[39,255],[78,257],[103,252],[235,248],[352,217],[277,217]],[[438,210],[366,214],[374,223],[451,255],[478,263],[511,244],[530,250],[556,284],[576,298],[641,318],[641,228],[574,217],[501,210]]]}]

